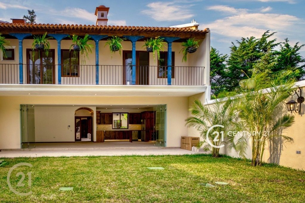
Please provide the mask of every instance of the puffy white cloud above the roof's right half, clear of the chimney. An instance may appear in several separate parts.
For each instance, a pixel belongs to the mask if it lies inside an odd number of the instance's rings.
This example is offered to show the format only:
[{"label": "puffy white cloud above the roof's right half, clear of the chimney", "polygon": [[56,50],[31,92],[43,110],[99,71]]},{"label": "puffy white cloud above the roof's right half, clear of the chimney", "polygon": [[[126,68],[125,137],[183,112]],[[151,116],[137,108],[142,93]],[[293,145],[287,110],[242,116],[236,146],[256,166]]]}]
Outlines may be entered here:
[{"label": "puffy white cloud above the roof's right half, clear of the chimney", "polygon": [[177,5],[176,2],[152,2],[147,4],[149,9],[141,13],[156,21],[185,20],[194,16],[188,6]]}]

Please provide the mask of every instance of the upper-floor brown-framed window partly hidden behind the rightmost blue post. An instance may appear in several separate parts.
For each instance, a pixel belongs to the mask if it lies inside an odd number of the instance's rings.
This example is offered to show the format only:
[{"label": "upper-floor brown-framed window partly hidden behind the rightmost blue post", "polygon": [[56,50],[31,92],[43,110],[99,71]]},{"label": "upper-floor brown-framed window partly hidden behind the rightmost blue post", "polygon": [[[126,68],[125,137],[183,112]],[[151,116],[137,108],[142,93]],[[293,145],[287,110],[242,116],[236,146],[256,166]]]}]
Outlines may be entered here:
[{"label": "upper-floor brown-framed window partly hidden behind the rightmost blue post", "polygon": [[[172,78],[175,77],[175,52],[172,52]],[[167,78],[167,52],[160,52],[158,78]]]}]

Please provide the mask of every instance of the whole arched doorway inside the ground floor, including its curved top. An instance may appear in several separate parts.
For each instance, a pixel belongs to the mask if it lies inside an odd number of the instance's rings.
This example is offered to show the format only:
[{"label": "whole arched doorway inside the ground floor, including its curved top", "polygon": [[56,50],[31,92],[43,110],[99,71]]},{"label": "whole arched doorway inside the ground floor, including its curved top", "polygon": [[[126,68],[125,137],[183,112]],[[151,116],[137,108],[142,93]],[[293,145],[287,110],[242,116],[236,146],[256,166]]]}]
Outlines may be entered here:
[{"label": "whole arched doorway inside the ground floor, including its curved top", "polygon": [[75,141],[93,141],[93,116],[88,107],[75,110]]}]

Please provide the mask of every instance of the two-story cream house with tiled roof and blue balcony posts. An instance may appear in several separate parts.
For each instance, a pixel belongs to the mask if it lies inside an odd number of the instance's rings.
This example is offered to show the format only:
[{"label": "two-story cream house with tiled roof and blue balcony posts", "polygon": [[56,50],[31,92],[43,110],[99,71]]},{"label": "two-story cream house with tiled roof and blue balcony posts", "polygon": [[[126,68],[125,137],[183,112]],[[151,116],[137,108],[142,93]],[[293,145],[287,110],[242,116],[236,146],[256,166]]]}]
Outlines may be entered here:
[{"label": "two-story cream house with tiled roof and blue balcony posts", "polygon": [[[0,56],[0,149],[84,141],[179,147],[181,136],[192,136],[189,106],[210,97],[210,30],[195,21],[108,26],[108,12],[96,7],[96,25],[0,23],[9,41],[7,58]],[[52,37],[48,55],[32,49],[44,33]],[[85,34],[93,48],[81,60],[70,37]],[[105,46],[112,36],[125,38],[121,54]],[[154,59],[143,45],[159,36],[164,51]],[[182,62],[181,43],[193,37],[199,48]]]}]

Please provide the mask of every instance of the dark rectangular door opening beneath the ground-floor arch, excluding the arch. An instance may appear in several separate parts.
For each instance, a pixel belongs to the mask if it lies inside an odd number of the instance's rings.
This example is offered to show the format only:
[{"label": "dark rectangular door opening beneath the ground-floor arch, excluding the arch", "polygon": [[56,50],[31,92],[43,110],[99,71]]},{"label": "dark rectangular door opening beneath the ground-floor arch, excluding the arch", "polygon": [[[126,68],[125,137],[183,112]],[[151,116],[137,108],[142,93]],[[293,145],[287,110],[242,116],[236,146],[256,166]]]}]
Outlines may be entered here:
[{"label": "dark rectangular door opening beneath the ground-floor arch, excluding the arch", "polygon": [[93,141],[92,117],[75,116],[75,141]]}]

